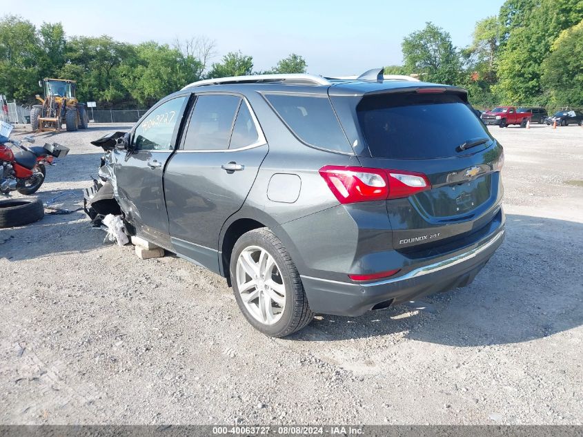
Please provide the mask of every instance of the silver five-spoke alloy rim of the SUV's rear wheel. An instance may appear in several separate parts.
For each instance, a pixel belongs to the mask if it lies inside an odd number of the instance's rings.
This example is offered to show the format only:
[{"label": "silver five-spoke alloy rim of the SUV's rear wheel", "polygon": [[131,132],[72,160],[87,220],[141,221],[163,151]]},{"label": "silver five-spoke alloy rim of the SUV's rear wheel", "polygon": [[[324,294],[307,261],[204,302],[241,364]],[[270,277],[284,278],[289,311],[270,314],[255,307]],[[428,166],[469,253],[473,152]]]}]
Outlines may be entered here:
[{"label": "silver five-spoke alloy rim of the SUV's rear wheel", "polygon": [[249,313],[263,324],[275,324],[286,307],[286,286],[275,259],[259,246],[248,246],[237,259],[237,289]]}]

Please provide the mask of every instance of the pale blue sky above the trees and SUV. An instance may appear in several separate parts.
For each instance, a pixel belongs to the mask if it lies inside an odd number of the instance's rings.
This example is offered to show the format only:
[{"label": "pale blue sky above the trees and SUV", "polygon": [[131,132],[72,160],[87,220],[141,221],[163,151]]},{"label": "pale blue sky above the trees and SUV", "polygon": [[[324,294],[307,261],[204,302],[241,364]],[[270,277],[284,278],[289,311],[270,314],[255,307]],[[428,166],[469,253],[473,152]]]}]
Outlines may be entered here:
[{"label": "pale blue sky above the trees and SUV", "polygon": [[502,3],[504,0],[0,0],[0,14],[20,15],[37,26],[43,21],[60,21],[68,36],[110,35],[131,43],[171,44],[176,38],[204,35],[216,43],[217,56],[212,61],[241,50],[253,56],[253,70],[257,71],[297,53],[306,59],[308,72],[335,76],[402,64],[403,37],[422,29],[426,21],[449,32],[455,46],[467,46],[475,22],[497,14]]}]

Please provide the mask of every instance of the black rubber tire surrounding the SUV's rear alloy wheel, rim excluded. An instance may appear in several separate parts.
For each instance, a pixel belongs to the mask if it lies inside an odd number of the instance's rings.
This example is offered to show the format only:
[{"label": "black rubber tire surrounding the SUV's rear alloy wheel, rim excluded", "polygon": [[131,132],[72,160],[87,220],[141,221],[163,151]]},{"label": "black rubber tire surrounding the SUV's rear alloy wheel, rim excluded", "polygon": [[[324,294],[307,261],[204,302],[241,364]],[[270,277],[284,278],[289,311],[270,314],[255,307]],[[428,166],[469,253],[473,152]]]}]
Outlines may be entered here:
[{"label": "black rubber tire surrounding the SUV's rear alloy wheel, rim excluded", "polygon": [[[273,257],[277,269],[281,272],[281,281],[285,286],[285,303],[281,317],[274,324],[264,324],[256,320],[252,313],[246,308],[239,287],[237,285],[237,262],[239,255],[246,249],[259,247]],[[314,313],[308,306],[308,299],[304,292],[302,280],[295,267],[290,254],[275,236],[267,228],[254,229],[241,235],[235,243],[230,259],[230,279],[233,284],[235,299],[239,309],[245,315],[248,322],[258,331],[271,337],[288,336],[295,331],[306,327],[313,319]]]}]

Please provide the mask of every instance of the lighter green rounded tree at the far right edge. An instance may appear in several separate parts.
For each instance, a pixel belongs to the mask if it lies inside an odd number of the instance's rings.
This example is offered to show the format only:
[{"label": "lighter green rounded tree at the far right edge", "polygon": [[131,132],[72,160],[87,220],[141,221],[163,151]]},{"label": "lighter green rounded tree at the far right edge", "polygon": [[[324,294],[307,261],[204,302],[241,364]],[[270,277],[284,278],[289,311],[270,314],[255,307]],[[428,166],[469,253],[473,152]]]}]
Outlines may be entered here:
[{"label": "lighter green rounded tree at the far right edge", "polygon": [[583,106],[583,21],[563,30],[542,64],[542,83],[551,103]]}]

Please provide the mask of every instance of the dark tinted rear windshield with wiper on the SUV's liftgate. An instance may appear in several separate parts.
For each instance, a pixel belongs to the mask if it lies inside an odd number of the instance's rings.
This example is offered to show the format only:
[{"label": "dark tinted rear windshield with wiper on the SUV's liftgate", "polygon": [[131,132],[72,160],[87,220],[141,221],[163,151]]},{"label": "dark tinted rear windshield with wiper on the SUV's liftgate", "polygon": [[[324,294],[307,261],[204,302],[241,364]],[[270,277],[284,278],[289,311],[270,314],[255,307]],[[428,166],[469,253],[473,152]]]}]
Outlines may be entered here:
[{"label": "dark tinted rear windshield with wiper on the SUV's liftgate", "polygon": [[[373,157],[431,159],[475,153],[492,137],[457,95],[393,94],[364,97],[357,106],[359,124]],[[475,139],[483,146],[456,150]]]}]

